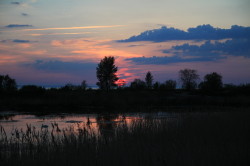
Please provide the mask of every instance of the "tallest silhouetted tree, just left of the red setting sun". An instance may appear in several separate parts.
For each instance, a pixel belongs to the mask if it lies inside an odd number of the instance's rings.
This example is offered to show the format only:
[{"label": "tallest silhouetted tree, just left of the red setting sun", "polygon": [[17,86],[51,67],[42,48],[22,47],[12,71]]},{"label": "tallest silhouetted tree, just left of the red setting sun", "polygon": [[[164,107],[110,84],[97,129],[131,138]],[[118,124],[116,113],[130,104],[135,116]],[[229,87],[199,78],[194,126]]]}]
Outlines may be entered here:
[{"label": "tallest silhouetted tree, just left of the red setting sun", "polygon": [[115,82],[119,79],[116,75],[118,68],[115,66],[114,57],[104,57],[96,68],[96,83],[100,89],[109,91],[116,87]]}]

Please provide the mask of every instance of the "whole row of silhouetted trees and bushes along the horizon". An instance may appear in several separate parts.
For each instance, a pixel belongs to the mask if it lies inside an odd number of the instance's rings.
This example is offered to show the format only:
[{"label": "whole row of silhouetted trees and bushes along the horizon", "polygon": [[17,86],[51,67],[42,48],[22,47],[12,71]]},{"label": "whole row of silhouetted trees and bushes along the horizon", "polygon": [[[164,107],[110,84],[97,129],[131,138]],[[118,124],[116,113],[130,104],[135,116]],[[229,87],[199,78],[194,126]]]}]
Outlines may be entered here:
[{"label": "whole row of silhouetted trees and bushes along the horizon", "polygon": [[[117,76],[118,67],[115,65],[115,58],[104,57],[96,68],[96,76],[98,82],[96,85],[100,90],[110,91],[111,89],[133,89],[133,90],[143,90],[143,89],[152,89],[152,90],[175,90],[177,88],[177,81],[175,80],[166,80],[164,83],[158,81],[154,82],[153,75],[148,71],[145,75],[145,79],[134,79],[130,86],[118,86],[117,81],[119,80]],[[206,74],[203,78],[203,81],[200,81],[200,76],[198,75],[197,70],[194,69],[183,69],[178,72],[179,81],[181,83],[181,88],[187,91],[192,91],[195,89],[200,89],[202,91],[219,91],[223,87],[236,87],[234,85],[223,85],[222,75],[212,72]],[[247,84],[246,86],[249,86]],[[86,80],[83,80],[81,85],[66,84],[61,87],[61,90],[86,90],[88,87]],[[41,87],[35,85],[26,85],[23,86],[21,91],[29,90],[41,90]],[[8,75],[0,75],[0,92],[3,91],[16,91],[17,84],[15,79],[12,79]]]}]

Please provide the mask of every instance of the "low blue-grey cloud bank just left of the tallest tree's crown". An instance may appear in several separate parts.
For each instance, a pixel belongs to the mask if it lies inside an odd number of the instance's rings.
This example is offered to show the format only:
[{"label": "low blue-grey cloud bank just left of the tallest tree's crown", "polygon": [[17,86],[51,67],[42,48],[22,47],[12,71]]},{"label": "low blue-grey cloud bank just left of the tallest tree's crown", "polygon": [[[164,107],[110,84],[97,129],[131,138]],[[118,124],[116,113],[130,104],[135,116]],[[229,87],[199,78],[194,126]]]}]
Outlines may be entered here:
[{"label": "low blue-grey cloud bank just left of the tallest tree's crown", "polygon": [[[63,62],[59,60],[36,60],[34,63],[25,64],[38,70],[49,72],[65,72],[65,73],[86,73],[95,72],[96,63],[91,62]],[[92,72],[91,72],[92,73]]]}]

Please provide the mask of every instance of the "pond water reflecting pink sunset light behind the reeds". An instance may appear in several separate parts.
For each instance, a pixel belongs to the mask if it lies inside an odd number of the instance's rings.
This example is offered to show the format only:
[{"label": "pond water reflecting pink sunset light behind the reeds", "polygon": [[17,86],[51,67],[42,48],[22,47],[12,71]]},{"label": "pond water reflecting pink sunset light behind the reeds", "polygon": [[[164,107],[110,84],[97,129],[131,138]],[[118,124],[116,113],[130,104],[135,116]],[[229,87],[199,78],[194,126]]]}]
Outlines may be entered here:
[{"label": "pond water reflecting pink sunset light behind the reeds", "polygon": [[27,125],[37,130],[46,129],[52,131],[55,124],[57,130],[75,130],[89,127],[95,133],[102,131],[112,131],[117,124],[125,124],[128,127],[133,120],[143,118],[167,118],[175,120],[176,115],[159,112],[159,113],[133,113],[133,114],[57,114],[57,115],[32,115],[19,114],[17,112],[1,112],[0,126],[2,126],[7,136],[11,136],[15,130],[27,129]]}]

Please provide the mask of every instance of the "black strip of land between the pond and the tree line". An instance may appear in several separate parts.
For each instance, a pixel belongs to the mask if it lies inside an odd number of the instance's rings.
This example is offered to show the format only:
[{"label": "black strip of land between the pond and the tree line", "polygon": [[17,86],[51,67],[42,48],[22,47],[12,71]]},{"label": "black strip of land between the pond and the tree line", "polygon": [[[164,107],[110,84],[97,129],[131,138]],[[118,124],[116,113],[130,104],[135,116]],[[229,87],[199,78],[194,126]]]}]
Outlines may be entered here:
[{"label": "black strip of land between the pond and the tree line", "polygon": [[81,90],[70,87],[44,89],[24,86],[20,90],[0,93],[1,111],[25,112],[133,112],[211,110],[249,108],[250,86],[228,86],[216,92],[200,89],[133,89]]}]

